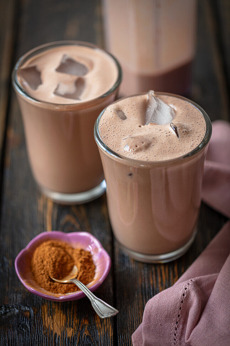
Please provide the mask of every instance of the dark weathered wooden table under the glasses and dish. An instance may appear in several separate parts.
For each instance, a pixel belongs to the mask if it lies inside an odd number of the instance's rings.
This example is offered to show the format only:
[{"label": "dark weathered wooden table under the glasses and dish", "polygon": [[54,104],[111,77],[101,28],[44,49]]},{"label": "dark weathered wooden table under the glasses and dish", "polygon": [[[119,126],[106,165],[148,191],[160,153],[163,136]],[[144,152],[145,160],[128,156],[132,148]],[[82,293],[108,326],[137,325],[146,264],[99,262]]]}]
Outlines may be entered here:
[{"label": "dark weathered wooden table under the glasses and dish", "polygon": [[[229,119],[230,1],[198,1],[190,98],[212,121]],[[1,0],[0,8],[0,345],[131,345],[147,300],[180,277],[226,219],[202,204],[189,252],[169,264],[142,264],[126,256],[114,239],[105,195],[79,206],[60,206],[42,196],[29,169],[10,73],[23,53],[42,43],[79,39],[103,45],[101,5],[97,0]],[[88,231],[102,242],[112,267],[96,293],[117,307],[115,318],[99,319],[87,298],[50,302],[22,286],[15,257],[44,230]]]}]

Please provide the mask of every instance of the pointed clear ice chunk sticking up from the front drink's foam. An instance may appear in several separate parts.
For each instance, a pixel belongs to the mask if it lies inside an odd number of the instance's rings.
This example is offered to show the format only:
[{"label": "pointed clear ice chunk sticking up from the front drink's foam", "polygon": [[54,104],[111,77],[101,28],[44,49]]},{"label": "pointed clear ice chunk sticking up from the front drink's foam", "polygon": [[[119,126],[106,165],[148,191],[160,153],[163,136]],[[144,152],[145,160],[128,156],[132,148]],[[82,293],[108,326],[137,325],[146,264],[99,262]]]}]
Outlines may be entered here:
[{"label": "pointed clear ice chunk sticking up from the front drink's foam", "polygon": [[169,104],[164,103],[155,97],[154,91],[148,91],[147,105],[145,109],[145,125],[153,124],[170,124],[175,117],[175,110]]}]

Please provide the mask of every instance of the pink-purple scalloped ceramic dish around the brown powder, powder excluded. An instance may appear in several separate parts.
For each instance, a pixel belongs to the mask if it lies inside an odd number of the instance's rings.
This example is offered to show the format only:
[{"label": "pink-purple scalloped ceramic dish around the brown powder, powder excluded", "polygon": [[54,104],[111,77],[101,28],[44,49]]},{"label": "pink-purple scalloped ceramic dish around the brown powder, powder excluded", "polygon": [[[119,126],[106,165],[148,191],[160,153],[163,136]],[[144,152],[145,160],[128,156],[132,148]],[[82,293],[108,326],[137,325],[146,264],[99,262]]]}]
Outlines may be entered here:
[{"label": "pink-purple scalloped ceramic dish around the brown powder, powder excluded", "polygon": [[90,251],[94,264],[96,266],[95,276],[92,282],[87,287],[90,291],[95,291],[105,280],[111,267],[111,259],[108,253],[103,248],[102,244],[88,232],[73,232],[64,233],[60,231],[43,232],[33,238],[25,249],[22,249],[15,259],[15,270],[21,283],[31,293],[38,295],[38,297],[48,300],[56,301],[68,301],[77,300],[85,297],[82,291],[76,291],[74,293],[54,294],[41,288],[33,279],[33,275],[30,271],[30,260],[35,248],[45,240],[57,239],[63,242],[69,243],[74,248],[82,248]]}]

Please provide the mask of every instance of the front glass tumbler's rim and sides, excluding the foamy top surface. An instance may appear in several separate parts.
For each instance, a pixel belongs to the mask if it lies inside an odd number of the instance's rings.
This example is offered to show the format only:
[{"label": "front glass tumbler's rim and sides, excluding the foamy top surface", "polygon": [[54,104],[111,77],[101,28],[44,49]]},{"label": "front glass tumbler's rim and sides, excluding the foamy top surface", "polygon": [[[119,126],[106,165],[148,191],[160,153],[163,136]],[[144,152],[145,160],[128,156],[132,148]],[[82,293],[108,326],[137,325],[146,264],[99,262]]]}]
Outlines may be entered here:
[{"label": "front glass tumbler's rim and sides, excluding the foamy top surface", "polygon": [[[156,93],[164,95],[166,93]],[[182,256],[197,233],[204,160],[211,137],[211,121],[196,103],[206,123],[202,142],[190,153],[150,162],[124,157],[102,140],[99,123],[94,136],[107,184],[106,196],[113,233],[132,258],[164,263]]]}]

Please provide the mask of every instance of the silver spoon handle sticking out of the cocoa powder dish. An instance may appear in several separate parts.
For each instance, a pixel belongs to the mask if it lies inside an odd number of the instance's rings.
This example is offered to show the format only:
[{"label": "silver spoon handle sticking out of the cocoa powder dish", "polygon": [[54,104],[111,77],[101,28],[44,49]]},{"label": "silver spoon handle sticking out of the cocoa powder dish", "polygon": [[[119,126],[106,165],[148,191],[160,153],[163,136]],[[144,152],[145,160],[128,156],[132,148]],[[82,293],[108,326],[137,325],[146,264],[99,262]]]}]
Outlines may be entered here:
[{"label": "silver spoon handle sticking out of the cocoa powder dish", "polygon": [[92,307],[100,318],[112,317],[118,313],[118,310],[105,303],[103,300],[97,298],[89,289],[79,280],[71,279],[69,282],[73,282],[86,297],[91,301]]}]

